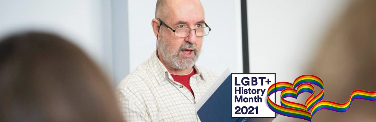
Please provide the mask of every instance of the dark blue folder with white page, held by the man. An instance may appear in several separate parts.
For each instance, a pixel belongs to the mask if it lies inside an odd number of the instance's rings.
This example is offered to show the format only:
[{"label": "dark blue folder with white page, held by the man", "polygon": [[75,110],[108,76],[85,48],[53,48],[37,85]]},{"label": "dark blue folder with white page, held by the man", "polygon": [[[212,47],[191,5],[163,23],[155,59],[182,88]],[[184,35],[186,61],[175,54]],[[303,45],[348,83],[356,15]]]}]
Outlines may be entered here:
[{"label": "dark blue folder with white page, held by the man", "polygon": [[196,103],[201,122],[271,122],[274,118],[231,118],[231,75],[229,69]]}]

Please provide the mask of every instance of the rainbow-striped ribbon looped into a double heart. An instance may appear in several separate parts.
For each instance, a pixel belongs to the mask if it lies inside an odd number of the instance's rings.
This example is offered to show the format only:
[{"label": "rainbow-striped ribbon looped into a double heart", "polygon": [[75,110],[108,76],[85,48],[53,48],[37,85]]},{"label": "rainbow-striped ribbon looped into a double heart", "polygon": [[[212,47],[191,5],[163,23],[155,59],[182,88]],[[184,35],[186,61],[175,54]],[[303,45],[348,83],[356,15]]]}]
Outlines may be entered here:
[{"label": "rainbow-striped ribbon looped into a double heart", "polygon": [[[320,87],[322,90],[315,95],[315,89],[312,84]],[[275,85],[275,87],[274,87]],[[281,92],[281,105],[271,101],[269,98],[275,92]],[[290,102],[284,98],[297,98],[300,93],[308,92],[312,95],[308,97],[305,104]],[[268,106],[269,108],[283,116],[289,116],[299,119],[311,121],[312,116],[319,110],[332,110],[337,112],[346,112],[349,110],[351,102],[354,99],[365,99],[369,101],[376,101],[376,92],[368,92],[364,90],[354,90],[351,93],[349,101],[345,103],[337,103],[332,101],[322,100],[324,96],[324,83],[315,75],[302,75],[295,79],[294,83],[278,82],[272,84],[268,89]]]}]

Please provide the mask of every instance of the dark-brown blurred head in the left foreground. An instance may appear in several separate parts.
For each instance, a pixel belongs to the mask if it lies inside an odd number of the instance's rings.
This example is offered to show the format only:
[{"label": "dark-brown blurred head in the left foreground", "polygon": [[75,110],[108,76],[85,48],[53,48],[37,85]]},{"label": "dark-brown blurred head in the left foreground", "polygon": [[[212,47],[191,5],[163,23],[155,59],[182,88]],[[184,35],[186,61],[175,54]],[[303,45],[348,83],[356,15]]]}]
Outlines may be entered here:
[{"label": "dark-brown blurred head in the left foreground", "polygon": [[65,39],[22,33],[0,41],[1,122],[121,122],[108,80]]}]

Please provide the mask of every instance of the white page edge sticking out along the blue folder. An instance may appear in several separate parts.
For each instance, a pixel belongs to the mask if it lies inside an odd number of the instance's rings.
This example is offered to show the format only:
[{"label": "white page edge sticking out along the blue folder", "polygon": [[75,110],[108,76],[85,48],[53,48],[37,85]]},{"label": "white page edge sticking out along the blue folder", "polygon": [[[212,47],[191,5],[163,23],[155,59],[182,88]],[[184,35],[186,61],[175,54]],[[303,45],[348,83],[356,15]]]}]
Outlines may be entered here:
[{"label": "white page edge sticking out along the blue folder", "polygon": [[202,107],[202,105],[210,98],[210,96],[215,92],[215,90],[218,89],[219,86],[223,83],[224,80],[230,75],[230,69],[226,68],[222,75],[218,77],[217,81],[215,81],[211,87],[206,91],[204,95],[199,99],[199,101],[196,102],[195,108],[196,112],[199,111],[199,109]]}]

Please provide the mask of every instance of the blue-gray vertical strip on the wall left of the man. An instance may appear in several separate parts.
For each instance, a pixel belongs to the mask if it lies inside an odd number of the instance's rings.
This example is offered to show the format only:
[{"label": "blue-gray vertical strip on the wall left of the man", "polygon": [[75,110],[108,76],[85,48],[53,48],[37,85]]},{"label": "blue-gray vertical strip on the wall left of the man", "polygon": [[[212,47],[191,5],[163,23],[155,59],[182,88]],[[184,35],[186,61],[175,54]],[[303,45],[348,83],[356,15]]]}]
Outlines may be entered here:
[{"label": "blue-gray vertical strip on the wall left of the man", "polygon": [[111,0],[114,85],[129,74],[128,0]]}]

